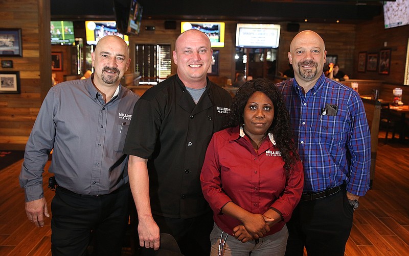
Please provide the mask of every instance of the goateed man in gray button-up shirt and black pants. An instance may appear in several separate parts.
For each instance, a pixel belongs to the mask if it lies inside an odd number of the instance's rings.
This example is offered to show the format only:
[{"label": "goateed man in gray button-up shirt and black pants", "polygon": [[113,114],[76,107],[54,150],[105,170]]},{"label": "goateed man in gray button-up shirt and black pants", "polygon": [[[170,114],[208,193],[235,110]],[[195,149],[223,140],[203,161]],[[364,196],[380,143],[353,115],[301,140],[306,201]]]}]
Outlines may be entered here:
[{"label": "goateed man in gray button-up shirt and black pants", "polygon": [[125,41],[103,37],[92,54],[92,76],[52,87],[34,123],[19,180],[27,217],[41,227],[50,216],[42,172],[54,149],[53,255],[84,255],[91,234],[97,255],[120,255],[129,195],[122,148],[139,98],[120,85],[129,63]]}]

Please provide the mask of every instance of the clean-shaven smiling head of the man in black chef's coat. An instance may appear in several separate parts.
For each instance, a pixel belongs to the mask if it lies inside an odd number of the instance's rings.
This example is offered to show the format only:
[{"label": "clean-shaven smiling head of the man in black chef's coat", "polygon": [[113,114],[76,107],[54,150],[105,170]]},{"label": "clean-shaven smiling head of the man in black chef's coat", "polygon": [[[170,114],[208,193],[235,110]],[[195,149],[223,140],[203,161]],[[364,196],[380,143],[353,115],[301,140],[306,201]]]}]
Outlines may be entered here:
[{"label": "clean-shaven smiling head of the man in black chef's coat", "polygon": [[177,75],[185,86],[206,86],[212,53],[209,38],[198,30],[188,30],[176,39],[173,61],[177,65]]}]

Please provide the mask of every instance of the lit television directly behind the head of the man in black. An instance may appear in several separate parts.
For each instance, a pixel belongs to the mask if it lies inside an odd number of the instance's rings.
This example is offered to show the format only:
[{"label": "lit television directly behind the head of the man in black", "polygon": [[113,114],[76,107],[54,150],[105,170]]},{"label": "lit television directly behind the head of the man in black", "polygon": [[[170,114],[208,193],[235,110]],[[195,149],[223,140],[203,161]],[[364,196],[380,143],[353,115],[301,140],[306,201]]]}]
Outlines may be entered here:
[{"label": "lit television directly behind the head of the man in black", "polygon": [[180,23],[181,33],[190,29],[205,33],[209,37],[212,47],[224,47],[224,22],[182,21]]}]

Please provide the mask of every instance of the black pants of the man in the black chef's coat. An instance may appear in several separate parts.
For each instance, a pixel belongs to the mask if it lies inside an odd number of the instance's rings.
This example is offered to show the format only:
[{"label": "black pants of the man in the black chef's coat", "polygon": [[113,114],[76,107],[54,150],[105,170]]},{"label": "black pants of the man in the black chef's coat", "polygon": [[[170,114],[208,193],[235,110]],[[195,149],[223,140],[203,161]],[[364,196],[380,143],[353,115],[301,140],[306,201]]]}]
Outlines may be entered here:
[{"label": "black pants of the man in the black chef's coat", "polygon": [[[212,211],[189,219],[166,218],[158,215],[153,215],[153,219],[161,233],[168,233],[175,238],[181,253],[185,256],[210,255],[210,233],[214,224]],[[141,250],[143,255],[150,255],[150,250],[153,251],[145,248]]]}]

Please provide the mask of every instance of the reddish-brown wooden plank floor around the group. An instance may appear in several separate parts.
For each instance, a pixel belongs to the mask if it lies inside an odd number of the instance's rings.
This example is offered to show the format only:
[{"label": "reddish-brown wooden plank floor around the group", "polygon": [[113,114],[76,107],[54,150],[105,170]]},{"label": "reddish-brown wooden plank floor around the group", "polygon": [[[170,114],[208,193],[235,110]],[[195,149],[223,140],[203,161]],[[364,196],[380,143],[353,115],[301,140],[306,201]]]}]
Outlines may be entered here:
[{"label": "reddish-brown wooden plank floor around the group", "polygon": [[[21,162],[0,170],[0,255],[51,255],[50,218],[37,228],[26,217],[18,185]],[[54,192],[47,185],[44,191],[50,206]],[[408,255],[409,144],[379,141],[373,187],[359,201],[345,255]],[[130,249],[122,254],[130,255]]]}]

